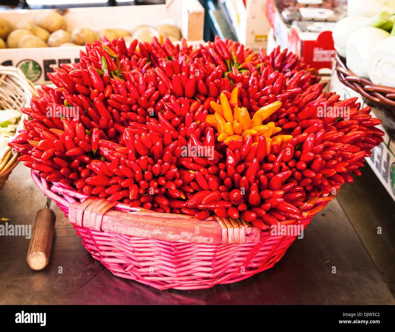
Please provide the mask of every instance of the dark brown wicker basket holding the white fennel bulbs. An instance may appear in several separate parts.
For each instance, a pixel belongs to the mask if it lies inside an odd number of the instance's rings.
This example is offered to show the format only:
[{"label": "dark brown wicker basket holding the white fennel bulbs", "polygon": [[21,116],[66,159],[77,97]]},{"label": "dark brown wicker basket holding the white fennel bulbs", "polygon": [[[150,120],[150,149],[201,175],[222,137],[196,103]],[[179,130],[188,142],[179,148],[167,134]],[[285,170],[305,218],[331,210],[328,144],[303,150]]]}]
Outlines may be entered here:
[{"label": "dark brown wicker basket holding the white fennel bulbs", "polygon": [[369,106],[376,106],[384,110],[387,116],[395,118],[395,88],[373,84],[349,71],[345,59],[339,54],[335,54],[335,58],[335,70],[340,82],[362,95],[363,100]]}]

